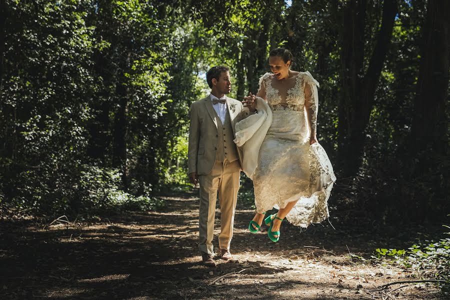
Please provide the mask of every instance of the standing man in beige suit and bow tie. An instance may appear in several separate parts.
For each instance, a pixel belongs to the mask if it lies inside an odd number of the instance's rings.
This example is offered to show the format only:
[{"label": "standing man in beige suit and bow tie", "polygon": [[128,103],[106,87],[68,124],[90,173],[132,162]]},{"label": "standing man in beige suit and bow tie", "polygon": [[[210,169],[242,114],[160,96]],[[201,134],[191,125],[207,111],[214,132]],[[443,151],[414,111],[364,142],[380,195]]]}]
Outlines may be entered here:
[{"label": "standing man in beige suit and bow tie", "polygon": [[214,266],[212,238],[217,193],[220,204],[217,254],[224,260],[232,258],[229,246],[241,170],[240,150],[233,142],[234,125],[250,112],[242,102],[225,96],[231,90],[226,66],[210,68],[206,81],[211,93],[190,106],[187,164],[191,182],[195,186],[200,184],[198,249],[203,264]]}]

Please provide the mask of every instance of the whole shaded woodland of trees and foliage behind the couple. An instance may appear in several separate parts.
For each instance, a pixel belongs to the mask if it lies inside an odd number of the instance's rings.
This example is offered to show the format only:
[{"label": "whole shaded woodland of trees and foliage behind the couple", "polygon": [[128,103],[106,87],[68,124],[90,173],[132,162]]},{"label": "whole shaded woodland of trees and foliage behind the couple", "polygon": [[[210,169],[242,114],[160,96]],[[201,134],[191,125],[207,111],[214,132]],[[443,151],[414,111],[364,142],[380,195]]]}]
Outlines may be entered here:
[{"label": "whole shaded woodland of trees and foliage behind the couple", "polygon": [[447,221],[450,1],[0,3],[4,217],[146,211],[190,189],[188,110],[208,93],[206,70],[229,66],[241,99],[284,46],[320,83],[332,213]]}]

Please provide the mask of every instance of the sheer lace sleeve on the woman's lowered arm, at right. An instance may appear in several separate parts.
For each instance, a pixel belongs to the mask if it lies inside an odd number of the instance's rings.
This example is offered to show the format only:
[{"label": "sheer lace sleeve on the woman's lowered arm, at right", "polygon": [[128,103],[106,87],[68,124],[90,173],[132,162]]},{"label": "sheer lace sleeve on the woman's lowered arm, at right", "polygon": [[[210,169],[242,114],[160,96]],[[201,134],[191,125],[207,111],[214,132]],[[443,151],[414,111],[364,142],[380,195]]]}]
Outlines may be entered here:
[{"label": "sheer lace sleeve on the woman's lowered arm, at right", "polygon": [[306,117],[308,119],[309,137],[314,137],[317,130],[317,87],[319,86],[319,84],[308,71],[305,72],[303,83],[304,109],[306,110]]}]

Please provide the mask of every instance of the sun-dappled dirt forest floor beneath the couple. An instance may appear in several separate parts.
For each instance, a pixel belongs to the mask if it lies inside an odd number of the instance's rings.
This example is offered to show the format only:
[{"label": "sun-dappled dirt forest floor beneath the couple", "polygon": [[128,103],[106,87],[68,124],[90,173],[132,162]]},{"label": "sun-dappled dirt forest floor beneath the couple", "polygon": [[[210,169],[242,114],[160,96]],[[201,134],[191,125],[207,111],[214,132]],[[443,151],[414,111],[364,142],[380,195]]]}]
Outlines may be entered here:
[{"label": "sun-dappled dirt forest floor beneath the couple", "polygon": [[[414,228],[378,232],[357,222],[333,222],[333,229],[325,221],[301,230],[283,223],[280,241],[273,243],[265,225],[249,233],[253,210],[238,203],[234,259],[206,267],[197,252],[196,193],[164,199],[158,211],[95,222],[0,223],[0,299],[444,298],[430,283],[372,291],[417,278],[394,265],[356,257],[369,258],[377,247],[407,248],[420,234]],[[219,216],[217,209],[215,247]]]}]

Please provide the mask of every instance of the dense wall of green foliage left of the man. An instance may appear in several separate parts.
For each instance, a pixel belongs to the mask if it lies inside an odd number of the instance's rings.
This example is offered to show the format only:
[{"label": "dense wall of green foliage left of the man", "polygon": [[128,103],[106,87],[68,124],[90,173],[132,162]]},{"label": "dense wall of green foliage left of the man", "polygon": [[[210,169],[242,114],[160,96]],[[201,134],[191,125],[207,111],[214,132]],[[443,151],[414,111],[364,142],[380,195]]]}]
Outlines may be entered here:
[{"label": "dense wall of green foliage left of the man", "polygon": [[165,174],[160,153],[178,132],[160,51],[174,28],[157,12],[137,0],[7,1],[3,204],[57,214],[159,203],[148,187]]}]

